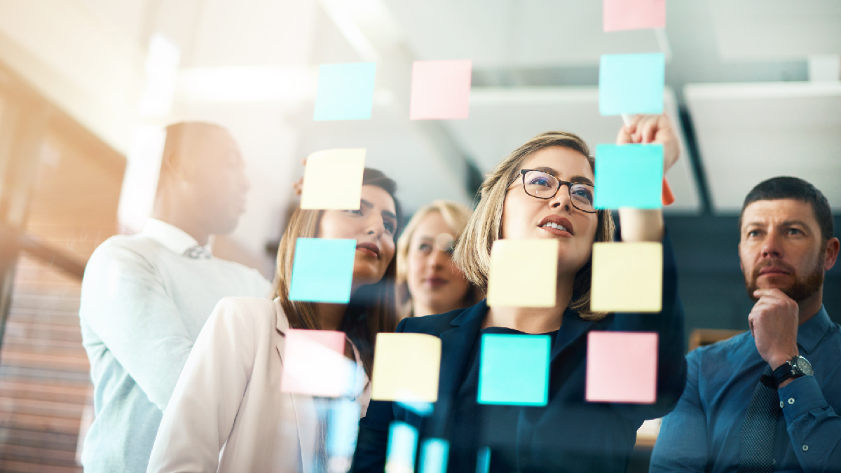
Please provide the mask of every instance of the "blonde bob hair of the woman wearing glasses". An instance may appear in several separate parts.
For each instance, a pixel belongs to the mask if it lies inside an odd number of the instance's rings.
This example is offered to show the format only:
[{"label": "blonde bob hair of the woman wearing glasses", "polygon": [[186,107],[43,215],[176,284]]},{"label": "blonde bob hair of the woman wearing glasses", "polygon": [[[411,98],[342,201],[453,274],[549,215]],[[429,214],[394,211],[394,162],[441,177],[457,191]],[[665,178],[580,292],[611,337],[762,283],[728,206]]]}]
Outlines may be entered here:
[{"label": "blonde bob hair of the woman wearing glasses", "polygon": [[[526,144],[514,150],[508,157],[485,175],[479,188],[479,205],[470,216],[462,237],[456,244],[455,261],[464,275],[480,290],[488,288],[490,272],[490,248],[502,237],[502,208],[509,186],[520,176],[520,167],[526,157],[535,151],[551,146],[561,146],[579,151],[595,173],[595,159],[590,156],[590,147],[579,136],[565,131],[547,131],[535,136]],[[595,242],[612,242],[616,226],[610,210],[599,210]],[[575,274],[573,298],[569,309],[578,311],[584,320],[598,321],[606,312],[590,311],[590,279],[592,278],[592,256],[584,267]]]}]

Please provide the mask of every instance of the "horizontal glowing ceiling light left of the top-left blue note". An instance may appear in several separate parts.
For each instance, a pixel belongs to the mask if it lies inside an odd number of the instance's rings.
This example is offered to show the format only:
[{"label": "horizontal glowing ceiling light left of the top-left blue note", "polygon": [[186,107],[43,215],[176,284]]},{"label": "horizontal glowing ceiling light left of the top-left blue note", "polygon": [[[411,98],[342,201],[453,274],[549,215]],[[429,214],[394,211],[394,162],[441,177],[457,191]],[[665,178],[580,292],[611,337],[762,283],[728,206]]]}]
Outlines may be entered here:
[{"label": "horizontal glowing ceiling light left of the top-left blue note", "polygon": [[315,66],[224,66],[184,69],[178,97],[188,102],[246,103],[314,100]]}]

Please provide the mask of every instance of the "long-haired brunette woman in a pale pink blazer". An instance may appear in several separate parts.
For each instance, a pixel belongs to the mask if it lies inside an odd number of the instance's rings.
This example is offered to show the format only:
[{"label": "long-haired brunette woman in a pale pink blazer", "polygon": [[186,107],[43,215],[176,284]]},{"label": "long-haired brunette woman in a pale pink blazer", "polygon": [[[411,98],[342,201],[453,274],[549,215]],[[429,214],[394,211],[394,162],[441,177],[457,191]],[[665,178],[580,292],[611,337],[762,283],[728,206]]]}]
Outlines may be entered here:
[{"label": "long-haired brunette woman in a pale pink blazer", "polygon": [[[366,168],[358,210],[295,210],[278,249],[272,299],[225,298],[199,334],[164,412],[150,472],[346,471],[356,420],[371,397],[375,337],[393,332],[397,321],[394,238],[401,216],[395,190],[393,180]],[[299,238],[357,241],[348,304],[290,299]],[[283,389],[290,328],[345,332],[345,356],[336,353],[347,360],[337,365],[348,367],[341,396]],[[313,349],[304,354],[325,356]],[[328,426],[348,413],[354,432],[325,444]]]}]

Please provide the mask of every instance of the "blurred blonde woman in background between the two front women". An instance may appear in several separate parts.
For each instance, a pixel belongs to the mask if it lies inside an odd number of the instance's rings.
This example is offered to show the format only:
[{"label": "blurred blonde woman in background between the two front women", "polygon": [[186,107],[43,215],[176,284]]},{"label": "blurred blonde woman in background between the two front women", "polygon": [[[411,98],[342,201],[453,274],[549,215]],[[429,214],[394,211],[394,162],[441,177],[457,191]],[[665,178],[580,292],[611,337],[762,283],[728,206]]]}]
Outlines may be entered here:
[{"label": "blurred blonde woman in background between the two front women", "polygon": [[415,212],[397,241],[397,303],[401,318],[473,306],[479,288],[452,261],[470,217],[467,205],[434,200]]}]

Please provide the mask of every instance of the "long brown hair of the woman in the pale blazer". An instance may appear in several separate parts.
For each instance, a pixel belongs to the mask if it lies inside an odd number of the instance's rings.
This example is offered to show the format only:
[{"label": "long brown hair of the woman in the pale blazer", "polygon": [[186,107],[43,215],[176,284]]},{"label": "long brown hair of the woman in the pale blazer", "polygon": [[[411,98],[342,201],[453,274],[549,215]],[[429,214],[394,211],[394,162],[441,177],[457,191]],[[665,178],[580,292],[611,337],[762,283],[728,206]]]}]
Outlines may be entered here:
[{"label": "long brown hair of the woman in the pale blazer", "polygon": [[[372,185],[383,189],[394,200],[397,215],[398,235],[403,215],[394,193],[397,184],[377,169],[366,167],[362,173],[362,185]],[[278,266],[272,283],[272,298],[279,298],[280,306],[289,321],[289,327],[320,329],[318,312],[314,302],[289,299],[292,284],[292,263],[295,256],[295,243],[299,238],[318,236],[321,217],[324,210],[295,209],[278,247]],[[397,327],[397,303],[394,300],[394,275],[397,273],[397,258],[392,258],[385,270],[383,279],[375,284],[367,284],[357,289],[347,305],[345,316],[339,330],[356,345],[362,365],[368,377],[373,371],[373,347],[379,332],[394,332]]]}]

